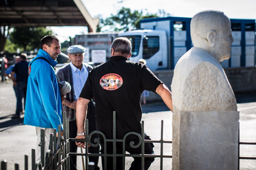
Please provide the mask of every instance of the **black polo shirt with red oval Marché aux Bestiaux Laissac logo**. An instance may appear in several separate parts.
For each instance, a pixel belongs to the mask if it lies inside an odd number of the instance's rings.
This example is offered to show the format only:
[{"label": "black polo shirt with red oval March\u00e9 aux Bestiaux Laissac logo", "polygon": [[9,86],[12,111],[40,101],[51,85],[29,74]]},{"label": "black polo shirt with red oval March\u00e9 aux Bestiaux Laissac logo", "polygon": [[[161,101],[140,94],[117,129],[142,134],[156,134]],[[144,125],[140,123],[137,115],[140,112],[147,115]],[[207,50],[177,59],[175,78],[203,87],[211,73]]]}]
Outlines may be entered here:
[{"label": "black polo shirt with red oval March\u00e9 aux Bestiaux Laissac logo", "polygon": [[113,139],[116,111],[116,137],[123,139],[128,132],[141,134],[141,94],[143,90],[155,92],[161,83],[146,65],[112,56],[89,72],[80,97],[94,97],[96,127],[107,139]]}]

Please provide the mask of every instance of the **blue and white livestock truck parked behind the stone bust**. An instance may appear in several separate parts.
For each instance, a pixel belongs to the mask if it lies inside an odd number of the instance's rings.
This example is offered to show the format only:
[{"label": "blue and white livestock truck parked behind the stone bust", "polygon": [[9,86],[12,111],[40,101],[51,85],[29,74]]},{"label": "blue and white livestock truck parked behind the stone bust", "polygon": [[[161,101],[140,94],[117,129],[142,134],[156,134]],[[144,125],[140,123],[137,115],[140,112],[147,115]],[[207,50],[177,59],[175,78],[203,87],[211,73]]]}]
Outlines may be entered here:
[{"label": "blue and white livestock truck parked behind the stone bust", "polygon": [[[191,18],[166,17],[140,20],[140,29],[119,33],[132,42],[131,61],[145,59],[152,71],[173,70],[179,58],[193,47]],[[234,42],[223,68],[255,67],[255,20],[230,19]]]}]

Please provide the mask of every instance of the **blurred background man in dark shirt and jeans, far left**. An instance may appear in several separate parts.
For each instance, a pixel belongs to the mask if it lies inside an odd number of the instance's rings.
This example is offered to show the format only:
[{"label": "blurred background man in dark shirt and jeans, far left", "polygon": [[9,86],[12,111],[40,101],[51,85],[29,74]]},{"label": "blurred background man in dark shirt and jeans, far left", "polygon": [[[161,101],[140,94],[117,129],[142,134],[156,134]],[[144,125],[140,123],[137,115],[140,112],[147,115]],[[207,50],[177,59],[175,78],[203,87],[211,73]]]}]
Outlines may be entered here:
[{"label": "blurred background man in dark shirt and jeans, far left", "polygon": [[[13,81],[13,86],[14,87],[17,86],[16,114],[12,117],[12,119],[20,118],[20,110],[22,110],[22,97],[24,97],[24,110],[25,110],[27,84],[28,84],[28,62],[26,60],[27,60],[27,54],[22,53],[20,55],[20,62],[15,64],[11,72],[11,79]],[[16,79],[14,78],[14,74],[16,74]]]}]

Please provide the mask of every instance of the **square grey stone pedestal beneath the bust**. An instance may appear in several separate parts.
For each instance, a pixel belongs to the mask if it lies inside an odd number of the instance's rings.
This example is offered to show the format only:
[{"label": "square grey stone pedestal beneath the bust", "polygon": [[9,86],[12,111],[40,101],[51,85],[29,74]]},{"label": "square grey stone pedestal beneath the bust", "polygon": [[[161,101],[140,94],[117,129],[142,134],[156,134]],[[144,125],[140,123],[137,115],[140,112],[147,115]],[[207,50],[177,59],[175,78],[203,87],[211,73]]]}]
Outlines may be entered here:
[{"label": "square grey stone pedestal beneath the bust", "polygon": [[238,169],[238,111],[173,110],[173,170]]}]

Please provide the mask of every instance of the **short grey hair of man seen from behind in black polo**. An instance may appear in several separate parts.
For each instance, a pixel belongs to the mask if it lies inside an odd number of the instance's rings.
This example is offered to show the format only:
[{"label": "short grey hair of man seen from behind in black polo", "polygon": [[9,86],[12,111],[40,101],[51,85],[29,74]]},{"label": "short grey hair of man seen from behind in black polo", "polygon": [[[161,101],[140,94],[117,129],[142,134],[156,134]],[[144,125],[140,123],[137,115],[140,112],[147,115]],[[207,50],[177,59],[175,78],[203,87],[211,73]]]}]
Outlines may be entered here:
[{"label": "short grey hair of man seen from behind in black polo", "polygon": [[118,37],[111,44],[110,49],[112,48],[114,48],[115,52],[129,55],[132,52],[132,43],[126,37]]}]

